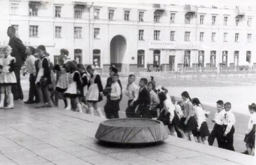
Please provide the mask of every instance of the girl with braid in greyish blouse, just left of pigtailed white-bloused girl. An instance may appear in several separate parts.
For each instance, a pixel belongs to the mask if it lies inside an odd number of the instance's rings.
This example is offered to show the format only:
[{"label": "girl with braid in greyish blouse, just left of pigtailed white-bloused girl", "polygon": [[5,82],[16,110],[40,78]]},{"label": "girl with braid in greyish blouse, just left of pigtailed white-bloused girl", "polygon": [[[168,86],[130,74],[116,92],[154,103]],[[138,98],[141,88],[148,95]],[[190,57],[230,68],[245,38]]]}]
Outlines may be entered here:
[{"label": "girl with braid in greyish blouse, just left of pigtailed white-bloused girl", "polygon": [[188,133],[190,141],[194,141],[194,136],[192,131],[197,129],[198,124],[195,119],[195,111],[193,110],[193,105],[191,98],[187,91],[182,92],[182,99],[185,101],[184,103],[184,112],[183,117],[180,119],[180,127]]}]

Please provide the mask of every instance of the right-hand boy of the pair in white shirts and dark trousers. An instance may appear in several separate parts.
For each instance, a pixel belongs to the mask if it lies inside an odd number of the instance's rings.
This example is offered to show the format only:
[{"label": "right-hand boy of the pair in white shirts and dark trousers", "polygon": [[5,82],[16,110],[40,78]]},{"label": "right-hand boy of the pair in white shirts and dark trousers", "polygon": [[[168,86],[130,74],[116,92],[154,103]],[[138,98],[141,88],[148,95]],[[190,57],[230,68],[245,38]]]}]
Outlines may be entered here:
[{"label": "right-hand boy of the pair in white shirts and dark trousers", "polygon": [[226,113],[224,114],[224,139],[225,139],[225,148],[227,150],[235,151],[233,142],[234,142],[234,133],[235,128],[234,124],[236,123],[236,118],[231,110],[231,104],[229,102],[224,104],[224,109]]}]

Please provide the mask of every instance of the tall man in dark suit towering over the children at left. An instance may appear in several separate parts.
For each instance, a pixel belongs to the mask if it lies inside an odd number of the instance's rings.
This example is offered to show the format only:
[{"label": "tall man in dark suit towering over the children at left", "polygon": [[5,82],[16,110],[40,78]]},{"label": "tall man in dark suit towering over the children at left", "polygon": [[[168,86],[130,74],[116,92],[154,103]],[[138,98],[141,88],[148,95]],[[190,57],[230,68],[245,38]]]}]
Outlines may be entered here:
[{"label": "tall man in dark suit towering over the children at left", "polygon": [[23,92],[22,88],[20,86],[20,69],[21,66],[24,64],[26,61],[26,46],[22,43],[20,38],[17,38],[15,36],[15,28],[10,26],[7,29],[7,35],[10,37],[9,40],[9,46],[12,48],[11,56],[15,57],[16,62],[15,62],[15,68],[14,68],[14,73],[17,79],[17,85],[13,85],[11,88],[11,92],[13,93],[13,98],[14,100],[21,99],[23,100]]}]

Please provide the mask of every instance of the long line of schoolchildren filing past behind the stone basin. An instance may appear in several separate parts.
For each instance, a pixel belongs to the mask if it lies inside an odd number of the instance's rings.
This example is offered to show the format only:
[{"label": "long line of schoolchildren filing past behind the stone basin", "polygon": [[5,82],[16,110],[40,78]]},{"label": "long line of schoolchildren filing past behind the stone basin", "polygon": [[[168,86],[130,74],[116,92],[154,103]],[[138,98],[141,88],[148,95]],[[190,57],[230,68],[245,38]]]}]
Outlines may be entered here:
[{"label": "long line of schoolchildren filing past behind the stone basin", "polygon": [[[33,55],[37,51],[36,59]],[[28,47],[26,50],[26,69],[30,73],[30,90],[26,104],[34,104],[35,107],[58,106],[61,98],[65,104],[65,110],[77,109],[81,113],[104,117],[97,103],[107,97],[104,111],[107,119],[119,118],[119,103],[122,99],[122,85],[119,80],[117,68],[109,68],[110,77],[107,79],[105,88],[102,86],[100,75],[93,65],[86,68],[83,64],[77,64],[68,58],[67,49],[60,50],[58,62],[53,66],[48,59],[45,46],[40,45],[37,49]],[[13,72],[15,58],[11,57],[9,46],[0,49],[0,108],[14,108],[11,85],[16,83]],[[55,76],[56,74],[56,76]],[[125,94],[128,97],[126,117],[138,117],[158,119],[167,125],[171,135],[197,141],[206,145],[213,145],[217,138],[218,146],[233,150],[235,116],[229,102],[217,101],[215,123],[211,133],[209,132],[206,119],[207,112],[198,98],[191,99],[188,92],[182,92],[183,101],[176,101],[174,96],[168,94],[163,86],[156,87],[154,77],[148,82],[146,78],[139,80],[139,86],[135,84],[135,75],[128,76],[128,84]],[[8,103],[4,106],[5,97]],[[249,106],[252,114],[245,142],[246,154],[252,154],[255,141],[256,105]],[[208,137],[208,138],[207,138]]]}]

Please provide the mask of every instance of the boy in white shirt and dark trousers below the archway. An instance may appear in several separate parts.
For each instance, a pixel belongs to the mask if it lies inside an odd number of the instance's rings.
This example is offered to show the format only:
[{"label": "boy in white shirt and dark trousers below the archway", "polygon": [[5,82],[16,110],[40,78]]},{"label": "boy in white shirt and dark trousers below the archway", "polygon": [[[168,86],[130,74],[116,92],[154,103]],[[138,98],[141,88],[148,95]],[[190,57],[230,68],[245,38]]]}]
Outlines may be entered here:
[{"label": "boy in white shirt and dark trousers below the archway", "polygon": [[119,102],[121,96],[121,86],[117,82],[118,80],[119,75],[117,73],[114,73],[112,75],[111,93],[108,94],[110,96],[110,99],[104,107],[107,119],[119,118],[118,111],[120,110]]}]

